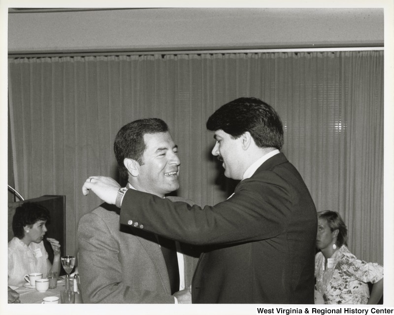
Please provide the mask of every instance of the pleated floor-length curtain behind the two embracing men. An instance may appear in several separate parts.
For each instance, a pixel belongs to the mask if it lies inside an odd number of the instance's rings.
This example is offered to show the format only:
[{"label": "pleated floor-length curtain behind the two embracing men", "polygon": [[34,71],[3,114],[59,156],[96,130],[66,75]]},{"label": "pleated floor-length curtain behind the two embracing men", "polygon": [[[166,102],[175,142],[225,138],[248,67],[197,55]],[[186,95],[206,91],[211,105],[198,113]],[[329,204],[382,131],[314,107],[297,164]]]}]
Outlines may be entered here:
[{"label": "pleated floor-length curtain behind the two embracing men", "polygon": [[13,184],[25,199],[66,195],[66,254],[75,254],[78,221],[101,202],[82,195],[83,182],[90,175],[119,180],[116,133],[132,120],[159,117],[179,147],[177,195],[213,205],[236,182],[211,156],[215,142],[205,122],[221,105],[254,96],[281,116],[282,151],[318,211],[338,211],[350,250],[383,263],[383,57],[342,51],[10,58]]}]

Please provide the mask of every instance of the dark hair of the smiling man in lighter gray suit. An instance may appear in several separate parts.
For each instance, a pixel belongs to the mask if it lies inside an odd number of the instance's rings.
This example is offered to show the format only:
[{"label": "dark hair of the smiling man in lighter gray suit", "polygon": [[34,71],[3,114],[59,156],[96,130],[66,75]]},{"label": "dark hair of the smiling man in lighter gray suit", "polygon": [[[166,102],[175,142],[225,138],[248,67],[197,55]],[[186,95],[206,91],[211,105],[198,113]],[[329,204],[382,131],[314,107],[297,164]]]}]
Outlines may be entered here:
[{"label": "dark hair of the smiling man in lighter gray suit", "polygon": [[167,132],[167,124],[159,118],[138,119],[124,125],[115,137],[114,151],[121,177],[128,178],[129,173],[123,164],[125,158],[144,164],[142,154],[146,149],[145,134]]}]

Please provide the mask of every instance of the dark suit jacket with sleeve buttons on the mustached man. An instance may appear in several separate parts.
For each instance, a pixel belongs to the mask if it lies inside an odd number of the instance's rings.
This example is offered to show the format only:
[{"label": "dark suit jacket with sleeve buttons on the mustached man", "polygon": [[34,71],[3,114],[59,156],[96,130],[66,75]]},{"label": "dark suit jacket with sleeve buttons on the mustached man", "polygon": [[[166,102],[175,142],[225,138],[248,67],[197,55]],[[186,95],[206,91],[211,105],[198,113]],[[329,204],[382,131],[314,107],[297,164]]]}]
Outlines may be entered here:
[{"label": "dark suit jacket with sleeve buttons on the mustached man", "polygon": [[193,277],[193,303],[314,303],[316,209],[283,153],[215,206],[201,209],[129,190],[120,222],[129,220],[205,245]]}]

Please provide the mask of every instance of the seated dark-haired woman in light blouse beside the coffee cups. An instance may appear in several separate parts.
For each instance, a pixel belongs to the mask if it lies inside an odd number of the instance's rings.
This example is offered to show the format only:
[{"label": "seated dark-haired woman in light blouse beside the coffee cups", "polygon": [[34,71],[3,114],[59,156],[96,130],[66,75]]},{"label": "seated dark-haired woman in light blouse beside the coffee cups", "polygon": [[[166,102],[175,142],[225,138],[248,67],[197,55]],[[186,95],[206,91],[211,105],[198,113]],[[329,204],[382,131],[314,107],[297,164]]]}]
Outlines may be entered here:
[{"label": "seated dark-haired woman in light blouse beside the coffee cups", "polygon": [[47,231],[49,211],[39,204],[25,202],[17,207],[12,218],[14,238],[8,242],[8,285],[22,286],[24,276],[41,272],[46,278],[49,271],[60,271],[60,244],[54,238],[46,240],[51,244],[53,264],[48,259],[43,239]]}]

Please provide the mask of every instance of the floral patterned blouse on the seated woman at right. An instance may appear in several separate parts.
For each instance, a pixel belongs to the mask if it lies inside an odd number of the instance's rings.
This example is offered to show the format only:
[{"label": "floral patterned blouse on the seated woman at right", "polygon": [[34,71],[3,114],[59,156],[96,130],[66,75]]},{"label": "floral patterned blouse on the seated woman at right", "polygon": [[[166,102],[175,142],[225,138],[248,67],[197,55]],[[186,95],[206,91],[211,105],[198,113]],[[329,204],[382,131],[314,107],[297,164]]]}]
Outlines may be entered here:
[{"label": "floral patterned blouse on the seated woman at right", "polygon": [[334,267],[325,270],[321,252],[315,257],[316,294],[322,294],[325,304],[366,304],[369,299],[367,282],[383,278],[383,266],[357,259],[342,245],[332,257]]}]

